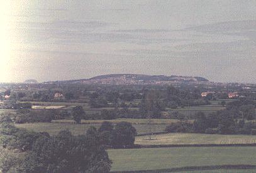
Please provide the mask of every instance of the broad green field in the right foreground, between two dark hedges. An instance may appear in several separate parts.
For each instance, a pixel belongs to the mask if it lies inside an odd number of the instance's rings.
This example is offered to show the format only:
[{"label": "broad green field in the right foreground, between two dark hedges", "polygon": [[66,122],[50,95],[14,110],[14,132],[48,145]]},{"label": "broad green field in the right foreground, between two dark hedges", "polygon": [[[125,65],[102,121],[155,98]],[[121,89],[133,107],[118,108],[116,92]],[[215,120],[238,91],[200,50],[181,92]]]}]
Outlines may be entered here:
[{"label": "broad green field in the right foreground, between two dark hedges", "polygon": [[110,149],[108,154],[113,161],[112,171],[158,170],[207,165],[256,165],[255,147]]}]

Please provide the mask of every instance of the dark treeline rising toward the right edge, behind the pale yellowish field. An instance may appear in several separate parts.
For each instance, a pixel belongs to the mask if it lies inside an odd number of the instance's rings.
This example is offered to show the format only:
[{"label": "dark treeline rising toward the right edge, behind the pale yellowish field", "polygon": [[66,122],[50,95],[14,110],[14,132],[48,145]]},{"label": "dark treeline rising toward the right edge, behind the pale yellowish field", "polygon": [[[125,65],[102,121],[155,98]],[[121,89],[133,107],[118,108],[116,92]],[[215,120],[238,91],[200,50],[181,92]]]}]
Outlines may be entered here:
[{"label": "dark treeline rising toward the right edge, behind the pale yellowish field", "polygon": [[167,132],[189,132],[205,134],[252,134],[256,135],[255,102],[238,100],[228,103],[225,110],[205,115],[196,114],[193,123],[181,120],[166,127]]}]

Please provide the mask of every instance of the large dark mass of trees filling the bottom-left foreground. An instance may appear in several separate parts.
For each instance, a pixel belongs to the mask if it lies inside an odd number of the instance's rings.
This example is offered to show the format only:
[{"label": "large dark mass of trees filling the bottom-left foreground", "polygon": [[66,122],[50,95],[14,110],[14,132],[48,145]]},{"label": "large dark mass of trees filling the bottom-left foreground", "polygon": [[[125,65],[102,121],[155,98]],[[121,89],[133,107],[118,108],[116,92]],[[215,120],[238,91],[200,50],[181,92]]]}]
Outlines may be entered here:
[{"label": "large dark mass of trees filling the bottom-left foreground", "polygon": [[[55,136],[16,128],[7,116],[0,120],[0,170],[2,172],[109,172],[111,160],[106,145],[132,145],[136,130],[131,123],[99,129],[90,127],[84,135],[62,130]],[[16,152],[13,152],[16,150]]]}]

